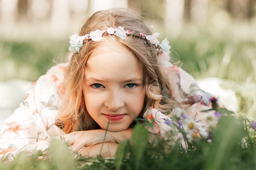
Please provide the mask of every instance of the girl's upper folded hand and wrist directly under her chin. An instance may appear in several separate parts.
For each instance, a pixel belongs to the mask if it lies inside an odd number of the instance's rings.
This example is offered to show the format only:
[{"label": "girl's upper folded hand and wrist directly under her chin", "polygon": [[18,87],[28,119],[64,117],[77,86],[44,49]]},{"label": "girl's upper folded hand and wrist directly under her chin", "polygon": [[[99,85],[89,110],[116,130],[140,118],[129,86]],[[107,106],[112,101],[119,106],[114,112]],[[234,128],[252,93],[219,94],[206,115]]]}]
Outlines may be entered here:
[{"label": "girl's upper folded hand and wrist directly under her chin", "polygon": [[106,130],[103,129],[82,130],[66,134],[64,139],[71,146],[70,149],[77,152],[84,146],[92,146],[95,144],[101,144],[103,142],[118,144],[125,139],[130,139],[131,133],[131,128],[120,132],[107,131],[107,133]]}]

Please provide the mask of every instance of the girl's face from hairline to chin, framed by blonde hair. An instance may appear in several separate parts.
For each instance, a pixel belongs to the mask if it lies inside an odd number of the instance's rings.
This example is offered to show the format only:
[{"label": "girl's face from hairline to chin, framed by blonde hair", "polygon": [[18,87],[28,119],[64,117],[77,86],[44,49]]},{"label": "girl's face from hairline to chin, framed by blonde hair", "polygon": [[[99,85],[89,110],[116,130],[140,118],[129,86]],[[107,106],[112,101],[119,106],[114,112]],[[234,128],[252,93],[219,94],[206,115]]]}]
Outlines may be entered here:
[{"label": "girl's face from hairline to chin, framed by blonde hair", "polygon": [[103,43],[85,68],[83,94],[89,115],[102,129],[126,130],[143,108],[143,80],[142,68],[131,51],[115,40]]}]

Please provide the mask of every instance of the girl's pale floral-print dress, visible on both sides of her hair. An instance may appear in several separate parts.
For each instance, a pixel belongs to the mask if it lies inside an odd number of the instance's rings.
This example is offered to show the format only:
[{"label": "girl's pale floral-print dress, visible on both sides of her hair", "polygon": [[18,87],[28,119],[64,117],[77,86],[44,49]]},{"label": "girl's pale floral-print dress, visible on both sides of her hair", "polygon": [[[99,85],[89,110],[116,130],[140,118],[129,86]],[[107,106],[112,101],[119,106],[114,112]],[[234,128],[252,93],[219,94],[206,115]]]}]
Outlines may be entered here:
[{"label": "girl's pale floral-print dress, visible on both sides of her hair", "polygon": [[[39,77],[27,90],[20,106],[1,126],[0,157],[16,155],[21,151],[45,150],[49,147],[51,138],[64,135],[63,130],[55,125],[55,121],[58,118],[58,106],[62,102],[59,96],[62,93],[66,65],[53,66],[45,75]],[[214,112],[201,112],[211,108],[211,95],[201,91],[193,77],[181,68],[170,63],[165,65],[173,97],[184,104],[173,109],[171,115],[175,115],[176,121],[154,108],[148,108],[144,118],[153,121],[153,127],[147,127],[148,131],[169,139],[168,132],[174,130],[174,138],[185,146],[184,135],[179,134],[175,127],[182,127],[186,131],[186,137],[193,139],[198,134],[207,137],[209,127],[216,124]]]}]

